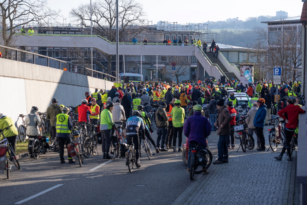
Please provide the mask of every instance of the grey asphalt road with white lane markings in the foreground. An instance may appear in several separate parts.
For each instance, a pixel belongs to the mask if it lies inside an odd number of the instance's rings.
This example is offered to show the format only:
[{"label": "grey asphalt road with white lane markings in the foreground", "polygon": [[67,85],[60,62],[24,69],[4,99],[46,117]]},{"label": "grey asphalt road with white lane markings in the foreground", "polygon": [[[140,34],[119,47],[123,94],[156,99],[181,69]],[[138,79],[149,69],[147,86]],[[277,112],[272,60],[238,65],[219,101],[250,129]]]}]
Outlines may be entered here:
[{"label": "grey asphalt road with white lane markings in the foreground", "polygon": [[[156,132],[152,137],[157,139]],[[213,160],[217,140],[216,132],[208,138]],[[171,204],[191,183],[182,153],[160,152],[148,160],[142,150],[141,168],[130,173],[124,159],[103,160],[101,145],[98,151],[99,155],[85,158],[82,167],[78,162],[68,164],[66,152],[66,164],[60,164],[58,153],[37,160],[21,158],[21,169],[12,167],[10,179],[1,179],[6,173],[0,173],[1,204],[14,204],[45,190],[22,204]]]}]

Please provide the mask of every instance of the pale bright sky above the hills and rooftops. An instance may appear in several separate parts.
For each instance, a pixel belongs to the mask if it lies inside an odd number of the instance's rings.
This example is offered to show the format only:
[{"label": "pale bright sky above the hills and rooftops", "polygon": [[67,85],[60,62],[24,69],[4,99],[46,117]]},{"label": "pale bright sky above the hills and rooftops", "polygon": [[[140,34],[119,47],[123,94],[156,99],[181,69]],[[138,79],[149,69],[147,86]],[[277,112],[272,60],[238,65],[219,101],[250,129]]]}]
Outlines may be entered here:
[{"label": "pale bright sky above the hills and rooftops", "polygon": [[[92,0],[93,2],[95,0]],[[69,11],[81,3],[90,3],[90,0],[48,0],[48,6],[53,10],[61,10],[61,15],[67,23],[73,23],[69,18]],[[275,16],[276,11],[288,12],[288,17],[300,16],[303,2],[301,0],[196,0],[170,1],[138,0],[146,12],[144,19],[153,21],[171,21],[178,24],[201,23],[207,21],[225,21],[227,18]],[[192,4],[190,4],[192,3]],[[63,19],[59,19],[63,22]]]}]

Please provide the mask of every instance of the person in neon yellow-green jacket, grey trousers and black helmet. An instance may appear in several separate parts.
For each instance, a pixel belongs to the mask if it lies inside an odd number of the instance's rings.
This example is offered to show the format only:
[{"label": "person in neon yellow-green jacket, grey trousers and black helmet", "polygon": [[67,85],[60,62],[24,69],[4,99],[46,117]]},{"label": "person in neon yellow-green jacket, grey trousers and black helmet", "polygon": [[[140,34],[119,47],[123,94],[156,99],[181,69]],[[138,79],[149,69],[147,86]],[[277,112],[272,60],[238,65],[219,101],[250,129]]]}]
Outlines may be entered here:
[{"label": "person in neon yellow-green jacket, grey trousers and black helmet", "polygon": [[101,130],[101,137],[102,141],[102,152],[103,152],[103,159],[111,159],[109,156],[110,151],[110,137],[111,131],[114,124],[112,119],[112,113],[114,103],[108,101],[106,103],[106,108],[100,114],[100,130]]}]

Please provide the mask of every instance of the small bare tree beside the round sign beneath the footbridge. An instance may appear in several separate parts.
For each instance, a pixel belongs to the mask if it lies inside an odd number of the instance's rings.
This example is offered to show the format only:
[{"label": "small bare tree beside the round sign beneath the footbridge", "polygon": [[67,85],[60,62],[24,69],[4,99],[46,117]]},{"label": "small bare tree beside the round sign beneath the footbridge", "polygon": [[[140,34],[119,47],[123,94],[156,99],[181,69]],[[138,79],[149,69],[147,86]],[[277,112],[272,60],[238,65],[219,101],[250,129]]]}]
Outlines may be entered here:
[{"label": "small bare tree beside the round sign beneath the footbridge", "polygon": [[191,62],[189,56],[166,56],[166,58],[169,65],[171,65],[172,62],[176,63],[176,70],[173,71],[168,68],[163,68],[161,71],[163,75],[173,75],[176,77],[177,82],[179,82],[180,76],[189,73],[189,65]]}]

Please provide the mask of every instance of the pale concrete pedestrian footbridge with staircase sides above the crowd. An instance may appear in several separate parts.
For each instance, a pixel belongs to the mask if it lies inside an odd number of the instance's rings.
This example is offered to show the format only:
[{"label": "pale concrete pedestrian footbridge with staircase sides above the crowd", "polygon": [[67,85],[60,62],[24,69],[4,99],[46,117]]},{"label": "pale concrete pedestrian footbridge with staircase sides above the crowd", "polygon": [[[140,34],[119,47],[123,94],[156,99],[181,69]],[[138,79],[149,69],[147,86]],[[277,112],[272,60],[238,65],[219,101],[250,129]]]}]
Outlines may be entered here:
[{"label": "pale concrete pedestrian footbridge with staircase sides above the crowd", "polygon": [[[105,54],[116,55],[116,43],[98,35],[34,34],[30,36],[17,34],[16,39],[17,46],[95,48]],[[165,46],[161,43],[119,43],[119,55],[196,56],[199,62],[197,78],[204,80],[205,71],[217,79],[220,78],[220,75],[226,75],[229,78],[240,76],[239,69],[234,64],[230,64],[221,53],[219,59],[226,69],[221,69],[219,65],[212,63],[198,46],[191,44]]]}]

